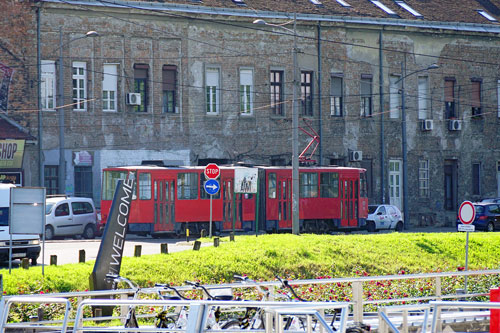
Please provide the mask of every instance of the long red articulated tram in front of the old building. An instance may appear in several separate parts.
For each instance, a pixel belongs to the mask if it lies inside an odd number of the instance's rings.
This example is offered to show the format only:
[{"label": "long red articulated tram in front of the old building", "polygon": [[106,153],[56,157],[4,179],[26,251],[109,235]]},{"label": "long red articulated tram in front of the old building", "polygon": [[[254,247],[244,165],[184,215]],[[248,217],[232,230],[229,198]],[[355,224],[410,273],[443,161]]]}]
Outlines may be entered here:
[{"label": "long red articulated tram in front of the old building", "polygon": [[[220,167],[220,191],[212,196],[215,232],[281,232],[292,228],[292,168],[255,167],[256,194],[235,193],[235,170]],[[348,167],[299,169],[301,232],[327,233],[366,226],[368,198],[365,170]],[[204,167],[124,166],[103,170],[101,213],[107,221],[117,181],[134,177],[136,185],[129,232],[182,235],[209,230],[210,195],[204,190]],[[237,192],[237,191],[236,191]],[[258,202],[257,202],[258,200]],[[256,219],[256,216],[258,217]],[[255,225],[255,221],[258,225]]]}]

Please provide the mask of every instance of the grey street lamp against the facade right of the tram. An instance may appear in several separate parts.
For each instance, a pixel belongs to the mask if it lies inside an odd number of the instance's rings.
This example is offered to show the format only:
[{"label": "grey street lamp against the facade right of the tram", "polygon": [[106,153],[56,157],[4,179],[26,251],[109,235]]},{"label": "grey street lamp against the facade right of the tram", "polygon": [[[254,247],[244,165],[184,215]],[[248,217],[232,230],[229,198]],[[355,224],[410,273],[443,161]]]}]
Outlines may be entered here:
[{"label": "grey street lamp against the facade right of the tram", "polygon": [[405,107],[405,78],[410,75],[439,68],[438,64],[432,64],[426,68],[422,68],[406,74],[406,58],[401,62],[401,78],[394,82],[398,84],[401,81],[401,145],[403,154],[403,215],[404,228],[408,229],[410,223],[410,213],[408,211],[408,161],[407,161],[407,144],[406,144],[406,107]]}]

